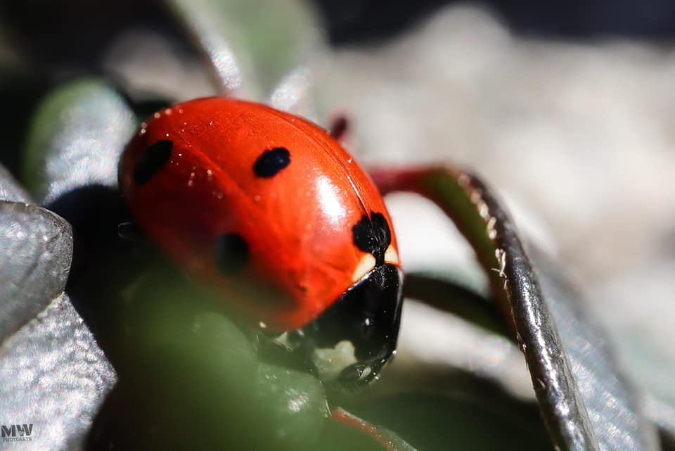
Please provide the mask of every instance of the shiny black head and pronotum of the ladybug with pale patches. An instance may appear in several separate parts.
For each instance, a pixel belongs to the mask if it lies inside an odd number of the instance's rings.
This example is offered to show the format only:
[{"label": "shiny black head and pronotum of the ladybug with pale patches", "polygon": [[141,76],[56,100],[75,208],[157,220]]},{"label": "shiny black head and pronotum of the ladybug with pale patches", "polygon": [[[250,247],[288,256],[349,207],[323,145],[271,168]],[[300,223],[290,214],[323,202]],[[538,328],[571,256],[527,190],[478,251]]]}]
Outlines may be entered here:
[{"label": "shiny black head and pronotum of the ladybug with pale patches", "polygon": [[395,354],[402,284],[399,267],[379,265],[321,316],[295,331],[321,379],[348,387],[364,385],[378,376]]}]

